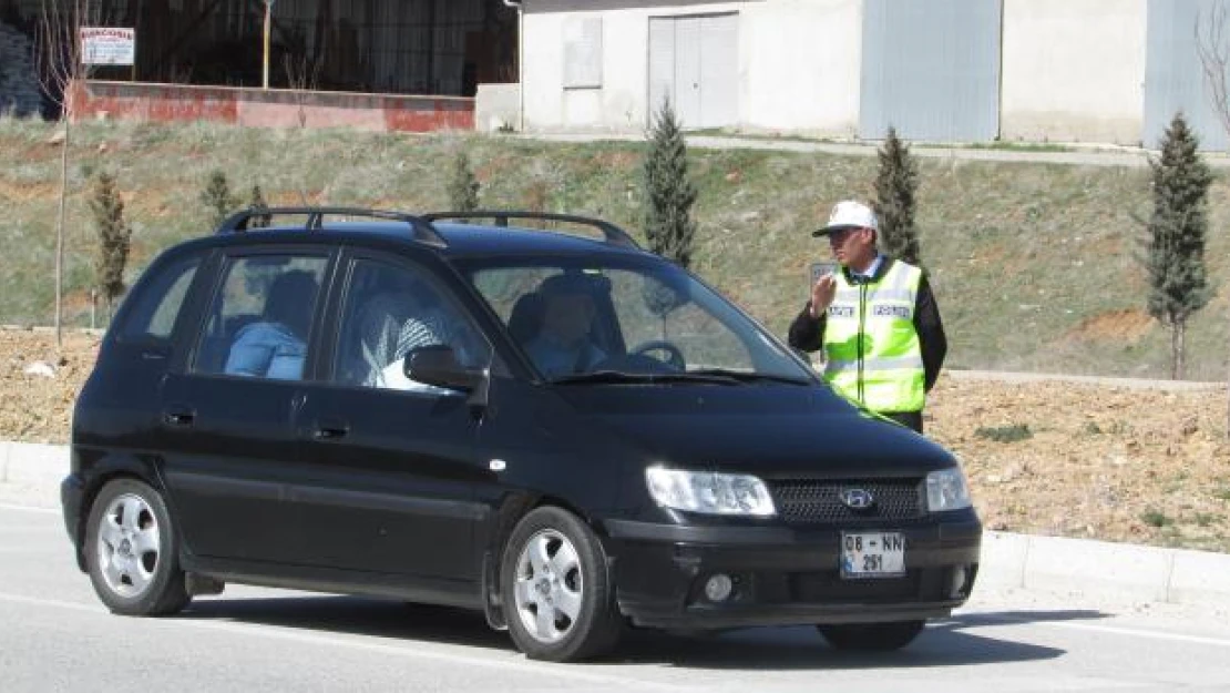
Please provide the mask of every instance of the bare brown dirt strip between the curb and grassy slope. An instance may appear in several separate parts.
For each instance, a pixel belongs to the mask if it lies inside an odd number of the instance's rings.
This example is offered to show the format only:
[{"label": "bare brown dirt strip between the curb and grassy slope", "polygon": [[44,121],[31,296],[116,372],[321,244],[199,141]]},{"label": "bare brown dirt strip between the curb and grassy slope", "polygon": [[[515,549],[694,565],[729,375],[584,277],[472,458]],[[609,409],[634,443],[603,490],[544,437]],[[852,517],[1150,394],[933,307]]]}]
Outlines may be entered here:
[{"label": "bare brown dirt strip between the curb and grassy slope", "polygon": [[[97,345],[65,331],[58,352],[49,331],[0,329],[0,439],[65,443]],[[988,528],[1230,551],[1223,389],[943,375],[926,426],[962,459]]]}]

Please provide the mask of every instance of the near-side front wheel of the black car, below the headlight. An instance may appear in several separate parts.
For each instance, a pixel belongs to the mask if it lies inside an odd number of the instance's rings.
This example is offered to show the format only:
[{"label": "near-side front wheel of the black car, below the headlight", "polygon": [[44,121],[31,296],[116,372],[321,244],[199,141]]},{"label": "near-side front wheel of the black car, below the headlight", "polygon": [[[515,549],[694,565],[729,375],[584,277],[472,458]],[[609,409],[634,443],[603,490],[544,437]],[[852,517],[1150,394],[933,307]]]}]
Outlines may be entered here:
[{"label": "near-side front wheel of the black car, below the headlight", "polygon": [[522,518],[499,575],[508,631],[525,656],[577,661],[619,640],[622,619],[605,553],[574,515],[547,506]]}]

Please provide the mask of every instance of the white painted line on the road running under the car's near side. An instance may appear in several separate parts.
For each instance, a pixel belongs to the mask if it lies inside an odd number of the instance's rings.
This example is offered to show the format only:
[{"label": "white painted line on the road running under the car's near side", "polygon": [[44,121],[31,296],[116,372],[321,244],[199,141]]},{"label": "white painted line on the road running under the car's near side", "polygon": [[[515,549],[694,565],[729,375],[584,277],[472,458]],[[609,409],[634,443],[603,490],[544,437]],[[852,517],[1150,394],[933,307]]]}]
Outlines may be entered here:
[{"label": "white painted line on the road running under the car's near side", "polygon": [[[96,615],[111,614],[102,606],[95,604],[82,604],[75,602],[62,602],[59,599],[43,599],[38,597],[26,597],[21,595],[9,595],[0,592],[0,602],[10,602],[16,604],[28,604],[36,607],[49,607],[57,609],[70,609],[75,612],[85,612]],[[344,638],[332,638],[327,635],[314,635],[295,633],[290,630],[284,630],[278,627],[272,625],[248,625],[241,623],[216,623],[216,622],[202,622],[192,619],[148,619],[148,623],[159,627],[184,627],[184,628],[200,628],[204,630],[215,630],[221,633],[234,633],[240,635],[255,635],[257,638],[268,638],[272,640],[288,640],[293,643],[304,643],[309,645],[320,645],[328,647],[346,647],[349,650],[362,650],[367,652],[379,652],[384,655],[396,655],[402,657],[411,657],[417,660],[434,660],[440,662],[449,662],[462,666],[474,667],[486,667],[496,670],[508,670],[518,673],[533,675],[533,676],[551,676],[554,678],[572,678],[577,682],[601,684],[601,686],[617,686],[631,689],[640,691],[663,691],[669,693],[681,693],[681,692],[696,692],[700,687],[695,686],[676,686],[670,683],[658,683],[653,681],[642,681],[638,678],[631,678],[626,676],[609,676],[600,673],[589,673],[579,671],[577,665],[551,665],[545,662],[534,662],[528,660],[492,660],[485,657],[474,657],[466,655],[459,655],[453,652],[432,651],[423,650],[422,647],[435,647],[438,645],[429,643],[415,641],[413,645],[386,645],[381,643],[370,643],[367,640],[352,640]],[[413,646],[415,649],[411,649]],[[520,655],[508,654],[509,657],[519,657]],[[583,665],[582,665],[583,666]]]}]

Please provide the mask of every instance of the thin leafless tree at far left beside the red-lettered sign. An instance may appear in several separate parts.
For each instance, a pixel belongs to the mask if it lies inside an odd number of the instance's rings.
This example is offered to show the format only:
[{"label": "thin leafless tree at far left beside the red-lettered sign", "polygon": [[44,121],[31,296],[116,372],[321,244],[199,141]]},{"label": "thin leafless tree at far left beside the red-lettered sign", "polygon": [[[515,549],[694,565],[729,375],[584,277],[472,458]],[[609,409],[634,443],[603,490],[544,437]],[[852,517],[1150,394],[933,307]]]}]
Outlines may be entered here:
[{"label": "thin leafless tree at far left beside the red-lettered sign", "polygon": [[64,209],[68,198],[69,148],[73,142],[74,95],[89,76],[82,62],[79,30],[97,26],[100,9],[90,0],[42,0],[34,37],[34,66],[43,94],[59,108],[60,127],[60,191],[55,212],[55,346],[64,338]]}]

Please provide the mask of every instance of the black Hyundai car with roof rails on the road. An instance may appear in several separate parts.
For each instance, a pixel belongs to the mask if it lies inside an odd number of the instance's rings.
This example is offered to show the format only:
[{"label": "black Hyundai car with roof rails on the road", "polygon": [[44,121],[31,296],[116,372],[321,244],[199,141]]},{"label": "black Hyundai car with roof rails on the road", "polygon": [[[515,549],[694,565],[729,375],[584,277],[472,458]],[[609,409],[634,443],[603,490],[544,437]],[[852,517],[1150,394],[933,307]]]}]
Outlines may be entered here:
[{"label": "black Hyundai car with roof rails on the road", "polygon": [[144,272],[71,451],[68,532],[121,614],[242,582],[481,609],[544,660],[630,627],[883,650],[978,571],[953,455],[577,217],[236,214]]}]

